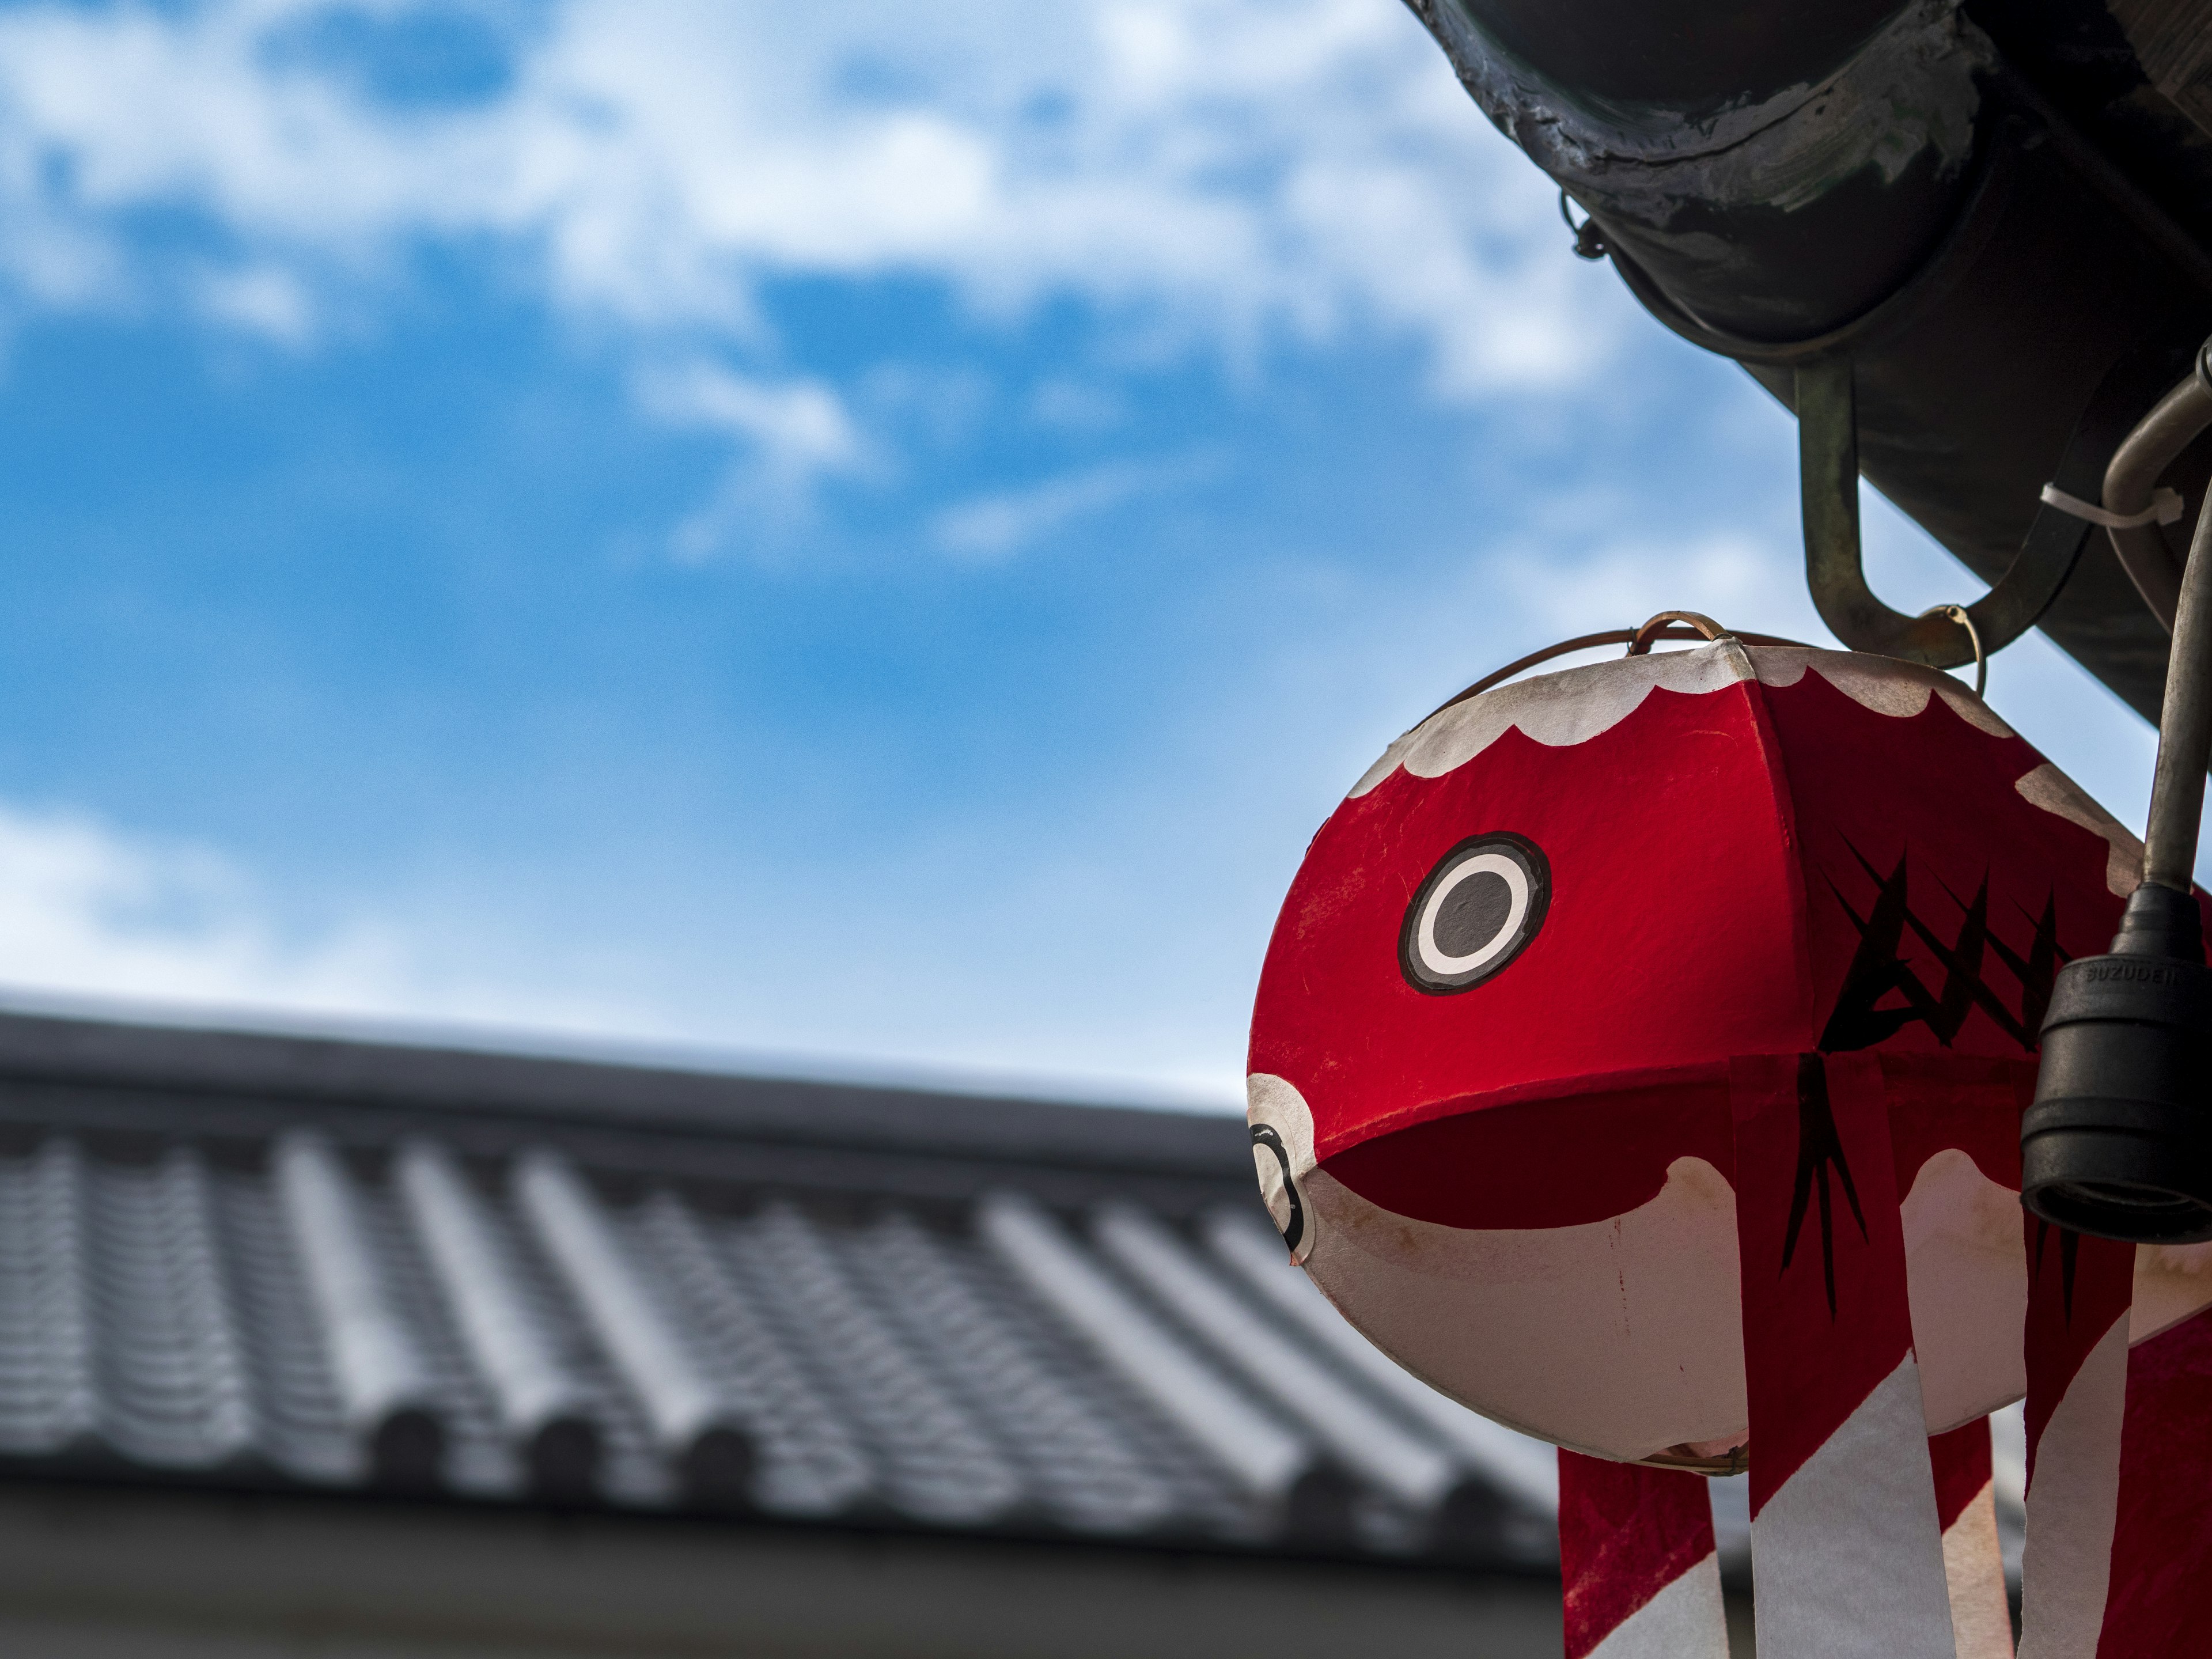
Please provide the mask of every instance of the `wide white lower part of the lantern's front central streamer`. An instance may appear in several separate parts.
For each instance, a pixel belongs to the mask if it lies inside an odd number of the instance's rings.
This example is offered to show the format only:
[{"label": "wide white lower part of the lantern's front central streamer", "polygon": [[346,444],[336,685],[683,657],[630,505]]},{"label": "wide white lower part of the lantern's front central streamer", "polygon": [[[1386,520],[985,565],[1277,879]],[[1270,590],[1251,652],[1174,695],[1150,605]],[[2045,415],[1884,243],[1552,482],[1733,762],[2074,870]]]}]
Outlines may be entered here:
[{"label": "wide white lower part of the lantern's front central streamer", "polygon": [[1752,1517],[1759,1659],[1958,1659],[1907,1354]]}]

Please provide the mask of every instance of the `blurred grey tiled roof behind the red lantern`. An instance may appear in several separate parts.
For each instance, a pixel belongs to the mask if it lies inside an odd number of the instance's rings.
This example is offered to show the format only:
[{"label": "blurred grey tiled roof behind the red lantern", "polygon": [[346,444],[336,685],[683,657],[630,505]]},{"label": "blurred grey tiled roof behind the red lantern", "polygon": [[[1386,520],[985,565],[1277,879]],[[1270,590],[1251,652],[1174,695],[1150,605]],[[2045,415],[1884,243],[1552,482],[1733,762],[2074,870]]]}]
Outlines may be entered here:
[{"label": "blurred grey tiled roof behind the red lantern", "polygon": [[0,1018],[0,1473],[1537,1564],[1241,1126]]}]

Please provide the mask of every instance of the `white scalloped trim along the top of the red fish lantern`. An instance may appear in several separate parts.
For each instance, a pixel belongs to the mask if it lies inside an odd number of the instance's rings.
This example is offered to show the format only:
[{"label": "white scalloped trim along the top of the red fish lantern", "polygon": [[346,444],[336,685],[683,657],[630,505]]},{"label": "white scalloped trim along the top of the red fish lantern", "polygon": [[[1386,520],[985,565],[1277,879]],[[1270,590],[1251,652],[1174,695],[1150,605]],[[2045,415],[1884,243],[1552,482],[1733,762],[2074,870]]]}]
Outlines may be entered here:
[{"label": "white scalloped trim along the top of the red fish lantern", "polygon": [[1515,728],[1546,748],[1588,743],[1628,719],[1655,688],[1701,697],[1745,679],[1756,679],[1761,686],[1794,686],[1807,668],[1818,670],[1820,679],[1876,714],[1911,719],[1929,706],[1929,697],[1942,697],[1951,712],[1975,730],[2013,737],[2013,728],[1997,719],[1989,703],[1936,668],[1851,650],[1745,648],[1736,639],[1717,639],[1697,650],[1619,657],[1557,675],[1515,679],[1442,708],[1383,750],[1383,759],[1352,785],[1352,796],[1367,794],[1400,765],[1418,779],[1444,776]]}]

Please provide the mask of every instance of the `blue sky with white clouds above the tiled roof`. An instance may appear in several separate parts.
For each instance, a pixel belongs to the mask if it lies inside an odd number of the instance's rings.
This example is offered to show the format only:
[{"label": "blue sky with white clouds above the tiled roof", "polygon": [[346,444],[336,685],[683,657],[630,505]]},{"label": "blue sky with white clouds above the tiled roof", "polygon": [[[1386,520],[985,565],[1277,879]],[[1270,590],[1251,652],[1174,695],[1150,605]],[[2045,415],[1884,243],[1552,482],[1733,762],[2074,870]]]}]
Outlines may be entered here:
[{"label": "blue sky with white clouds above the tiled roof", "polygon": [[0,458],[18,1004],[1228,1104],[1402,726],[1825,637],[1787,416],[1394,0],[0,7]]}]

